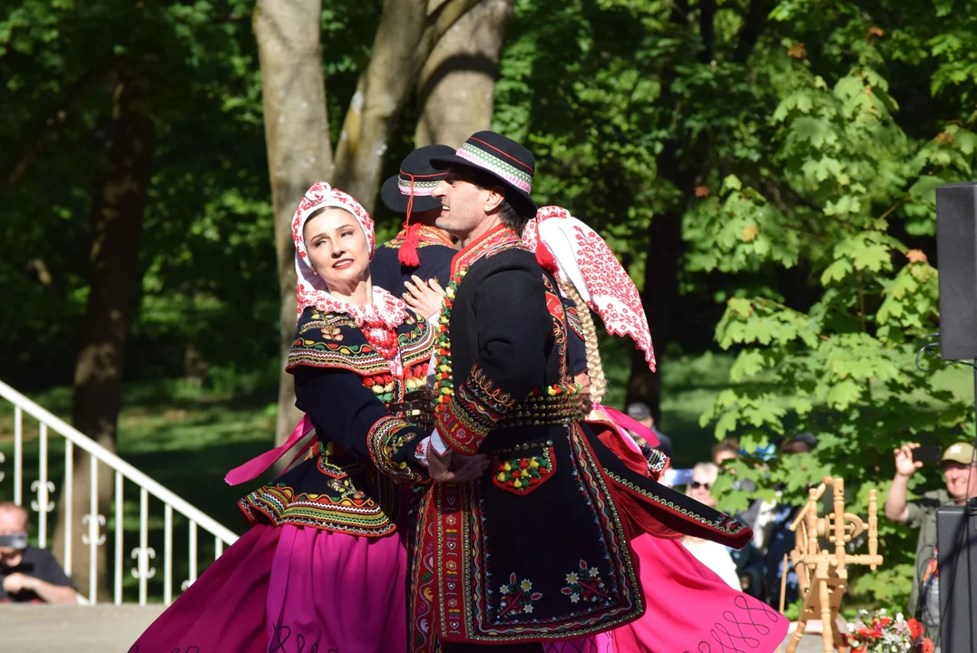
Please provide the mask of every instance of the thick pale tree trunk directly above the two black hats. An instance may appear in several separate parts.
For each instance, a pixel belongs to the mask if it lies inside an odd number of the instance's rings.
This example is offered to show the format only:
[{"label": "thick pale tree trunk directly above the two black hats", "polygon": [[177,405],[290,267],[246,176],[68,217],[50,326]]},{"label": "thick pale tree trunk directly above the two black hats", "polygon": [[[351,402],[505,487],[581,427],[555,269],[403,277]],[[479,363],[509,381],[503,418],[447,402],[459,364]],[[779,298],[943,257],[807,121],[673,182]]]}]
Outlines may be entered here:
[{"label": "thick pale tree trunk directly above the two black hats", "polygon": [[420,119],[414,145],[457,147],[491,127],[498,58],[513,0],[484,0],[435,46],[417,80]]}]

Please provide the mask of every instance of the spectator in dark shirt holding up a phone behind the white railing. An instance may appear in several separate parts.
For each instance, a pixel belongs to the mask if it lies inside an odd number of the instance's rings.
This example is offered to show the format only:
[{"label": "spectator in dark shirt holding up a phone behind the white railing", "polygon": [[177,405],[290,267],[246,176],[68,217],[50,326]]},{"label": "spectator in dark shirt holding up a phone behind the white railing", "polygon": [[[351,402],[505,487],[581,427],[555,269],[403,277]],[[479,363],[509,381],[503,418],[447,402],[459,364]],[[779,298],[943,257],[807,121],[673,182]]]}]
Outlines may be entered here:
[{"label": "spectator in dark shirt holding up a phone behind the white railing", "polygon": [[0,578],[0,603],[78,603],[55,556],[27,546],[27,511],[10,502],[0,504]]}]

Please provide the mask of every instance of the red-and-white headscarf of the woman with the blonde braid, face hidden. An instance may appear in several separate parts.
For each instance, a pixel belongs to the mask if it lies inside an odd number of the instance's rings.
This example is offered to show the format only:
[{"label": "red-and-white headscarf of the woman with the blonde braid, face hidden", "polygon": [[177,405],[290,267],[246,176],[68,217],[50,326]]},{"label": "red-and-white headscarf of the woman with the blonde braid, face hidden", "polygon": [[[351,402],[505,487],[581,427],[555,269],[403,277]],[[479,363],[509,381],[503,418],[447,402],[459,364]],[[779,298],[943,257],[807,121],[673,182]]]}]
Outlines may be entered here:
[{"label": "red-and-white headscarf of the woman with the blonde braid, face hidden", "polygon": [[608,333],[628,336],[655,371],[655,349],[641,295],[600,234],[559,206],[544,206],[523,231],[540,265],[572,283]]}]

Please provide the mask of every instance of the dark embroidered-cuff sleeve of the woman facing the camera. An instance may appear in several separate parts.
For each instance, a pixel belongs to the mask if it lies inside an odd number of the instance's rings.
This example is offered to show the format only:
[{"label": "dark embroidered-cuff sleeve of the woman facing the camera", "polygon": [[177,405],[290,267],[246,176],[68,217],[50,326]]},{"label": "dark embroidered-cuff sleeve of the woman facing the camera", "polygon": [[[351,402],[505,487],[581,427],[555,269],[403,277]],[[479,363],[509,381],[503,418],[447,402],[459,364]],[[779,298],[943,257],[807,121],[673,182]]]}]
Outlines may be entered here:
[{"label": "dark embroidered-cuff sleeve of the woman facing the camera", "polygon": [[417,446],[426,435],[420,427],[392,416],[359,375],[338,369],[299,366],[295,376],[295,405],[309,415],[325,438],[364,458],[395,480],[427,480],[416,460]]}]

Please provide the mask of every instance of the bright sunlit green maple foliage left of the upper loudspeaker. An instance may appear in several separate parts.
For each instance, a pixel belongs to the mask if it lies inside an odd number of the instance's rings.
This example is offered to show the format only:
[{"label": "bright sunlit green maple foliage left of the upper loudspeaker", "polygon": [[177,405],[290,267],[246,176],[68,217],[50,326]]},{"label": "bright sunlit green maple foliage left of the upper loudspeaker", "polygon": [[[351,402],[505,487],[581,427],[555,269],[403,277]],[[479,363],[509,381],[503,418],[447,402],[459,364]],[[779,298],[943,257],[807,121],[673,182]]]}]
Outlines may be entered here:
[{"label": "bright sunlit green maple foliage left of the upper loudspeaker", "polygon": [[[701,425],[713,424],[717,438],[738,436],[748,451],[814,433],[814,453],[749,456],[736,464],[736,477],[768,488],[764,498],[780,488],[783,501],[799,504],[809,482],[841,476],[854,510],[864,513],[869,488],[893,473],[894,447],[972,437],[972,398],[934,388],[931,372],[916,366],[916,351],[939,328],[937,272],[919,249],[932,251],[932,241],[916,238],[934,233],[935,187],[971,174],[975,135],[966,114],[945,114],[925,138],[901,122],[913,116],[901,118],[893,87],[905,70],[894,61],[936,58],[934,93],[968,69],[940,59],[952,39],[927,37],[931,21],[883,29],[873,22],[881,16],[860,15],[854,5],[824,10],[782,2],[772,15],[799,32],[786,52],[768,53],[773,65],[757,70],[776,71],[763,86],[780,101],[762,126],[776,175],[727,176],[718,197],[687,214],[685,234],[688,263],[703,271],[803,261],[820,287],[816,301],[800,308],[769,294],[727,301],[716,342],[738,351],[730,381],[754,383],[720,392]],[[803,35],[825,20],[817,41]],[[821,52],[808,55],[797,43],[818,43]],[[833,58],[837,52],[844,56]],[[719,492],[727,510],[749,500],[729,479]],[[884,518],[880,534],[885,568],[861,576],[853,591],[905,605],[912,538]]]}]

